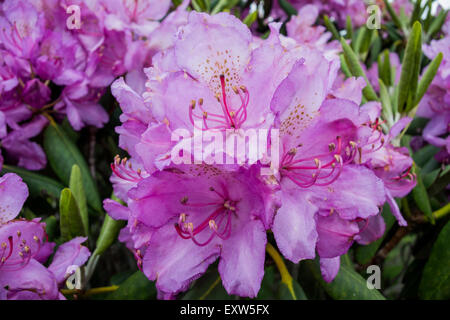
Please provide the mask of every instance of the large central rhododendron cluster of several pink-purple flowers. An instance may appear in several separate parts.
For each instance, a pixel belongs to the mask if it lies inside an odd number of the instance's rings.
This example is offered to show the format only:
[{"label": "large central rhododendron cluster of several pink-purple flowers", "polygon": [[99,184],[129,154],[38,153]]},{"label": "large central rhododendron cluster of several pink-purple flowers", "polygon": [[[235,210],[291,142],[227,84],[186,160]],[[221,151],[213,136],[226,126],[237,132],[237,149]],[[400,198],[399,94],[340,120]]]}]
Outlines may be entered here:
[{"label": "large central rhododendron cluster of several pink-purple flowers", "polygon": [[[124,111],[120,144],[131,159],[112,165],[115,193],[127,206],[106,200],[105,209],[128,221],[120,240],[156,280],[160,297],[186,290],[217,258],[227,292],[255,297],[267,230],[293,262],[317,252],[331,281],[353,241],[383,234],[386,201],[406,225],[393,196],[414,187],[404,174],[412,161],[390,144],[395,133],[381,132],[380,105],[359,108],[363,86],[355,78],[339,95],[338,57],[325,57],[320,44],[285,46],[278,28],[254,42],[229,14],[192,12],[173,46],[146,70],[144,92],[123,79],[112,86]],[[181,128],[189,135],[173,141]],[[263,157],[211,163],[186,148],[196,129],[229,143],[247,128],[278,130],[279,171],[262,175]],[[174,149],[192,162],[174,163]],[[217,155],[230,157],[224,148]]]}]

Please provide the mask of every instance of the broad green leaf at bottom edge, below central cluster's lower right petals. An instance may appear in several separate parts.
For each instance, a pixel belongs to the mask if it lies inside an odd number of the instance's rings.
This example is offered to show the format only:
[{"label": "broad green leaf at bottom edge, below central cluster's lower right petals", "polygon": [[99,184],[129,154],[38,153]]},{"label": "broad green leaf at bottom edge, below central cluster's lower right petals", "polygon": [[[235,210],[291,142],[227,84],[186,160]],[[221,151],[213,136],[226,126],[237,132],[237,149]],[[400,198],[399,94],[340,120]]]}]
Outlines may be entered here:
[{"label": "broad green leaf at bottom edge, below central cluster's lower right petals", "polygon": [[323,280],[317,260],[305,260],[305,263],[328,295],[335,300],[385,300],[378,290],[370,290],[366,280],[343,262],[336,278],[330,283]]}]

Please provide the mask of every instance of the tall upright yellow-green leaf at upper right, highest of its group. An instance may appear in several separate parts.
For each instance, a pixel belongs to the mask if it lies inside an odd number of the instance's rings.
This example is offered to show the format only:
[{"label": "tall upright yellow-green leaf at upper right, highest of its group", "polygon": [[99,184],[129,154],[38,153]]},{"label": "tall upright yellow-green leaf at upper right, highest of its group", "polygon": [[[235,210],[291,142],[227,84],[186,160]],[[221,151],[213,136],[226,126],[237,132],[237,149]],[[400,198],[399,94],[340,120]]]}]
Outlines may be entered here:
[{"label": "tall upright yellow-green leaf at upper right, highest of its group", "polygon": [[[420,22],[414,23],[411,35],[406,45],[405,56],[402,62],[402,73],[400,75],[399,93],[397,107],[399,112],[406,111],[406,104],[410,95],[415,95],[417,88],[418,63],[417,58],[422,54],[422,26]],[[415,99],[414,99],[415,101]],[[409,107],[409,106],[408,106]]]}]

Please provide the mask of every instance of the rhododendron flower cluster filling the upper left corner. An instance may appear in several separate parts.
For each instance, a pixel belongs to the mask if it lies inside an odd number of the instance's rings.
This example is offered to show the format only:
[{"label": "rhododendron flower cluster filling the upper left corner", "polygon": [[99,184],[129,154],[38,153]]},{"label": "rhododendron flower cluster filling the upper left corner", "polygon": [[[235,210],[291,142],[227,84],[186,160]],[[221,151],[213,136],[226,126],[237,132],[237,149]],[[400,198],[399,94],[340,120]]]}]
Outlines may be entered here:
[{"label": "rhododendron flower cluster filling the upper left corner", "polygon": [[[66,115],[76,130],[102,127],[108,114],[99,100],[106,88],[115,77],[149,66],[183,21],[186,1],[160,24],[170,3],[2,2],[0,139],[8,156],[27,169],[44,168],[45,154],[30,139],[48,124],[49,115]],[[70,15],[71,6],[82,19]],[[71,25],[72,19],[80,21]]]}]

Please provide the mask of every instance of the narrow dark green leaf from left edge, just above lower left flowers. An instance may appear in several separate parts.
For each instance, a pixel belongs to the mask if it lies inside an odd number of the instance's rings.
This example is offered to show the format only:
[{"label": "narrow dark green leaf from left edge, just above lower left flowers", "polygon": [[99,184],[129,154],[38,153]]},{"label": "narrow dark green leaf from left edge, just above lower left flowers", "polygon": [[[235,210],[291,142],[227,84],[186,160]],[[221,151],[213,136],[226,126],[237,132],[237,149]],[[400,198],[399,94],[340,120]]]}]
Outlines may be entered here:
[{"label": "narrow dark green leaf from left edge, just above lower left flowers", "polygon": [[2,174],[12,172],[19,175],[27,184],[30,195],[36,198],[50,196],[54,199],[59,199],[61,190],[64,186],[58,181],[50,179],[39,173],[34,173],[22,168],[17,168],[9,165],[3,165]]}]

